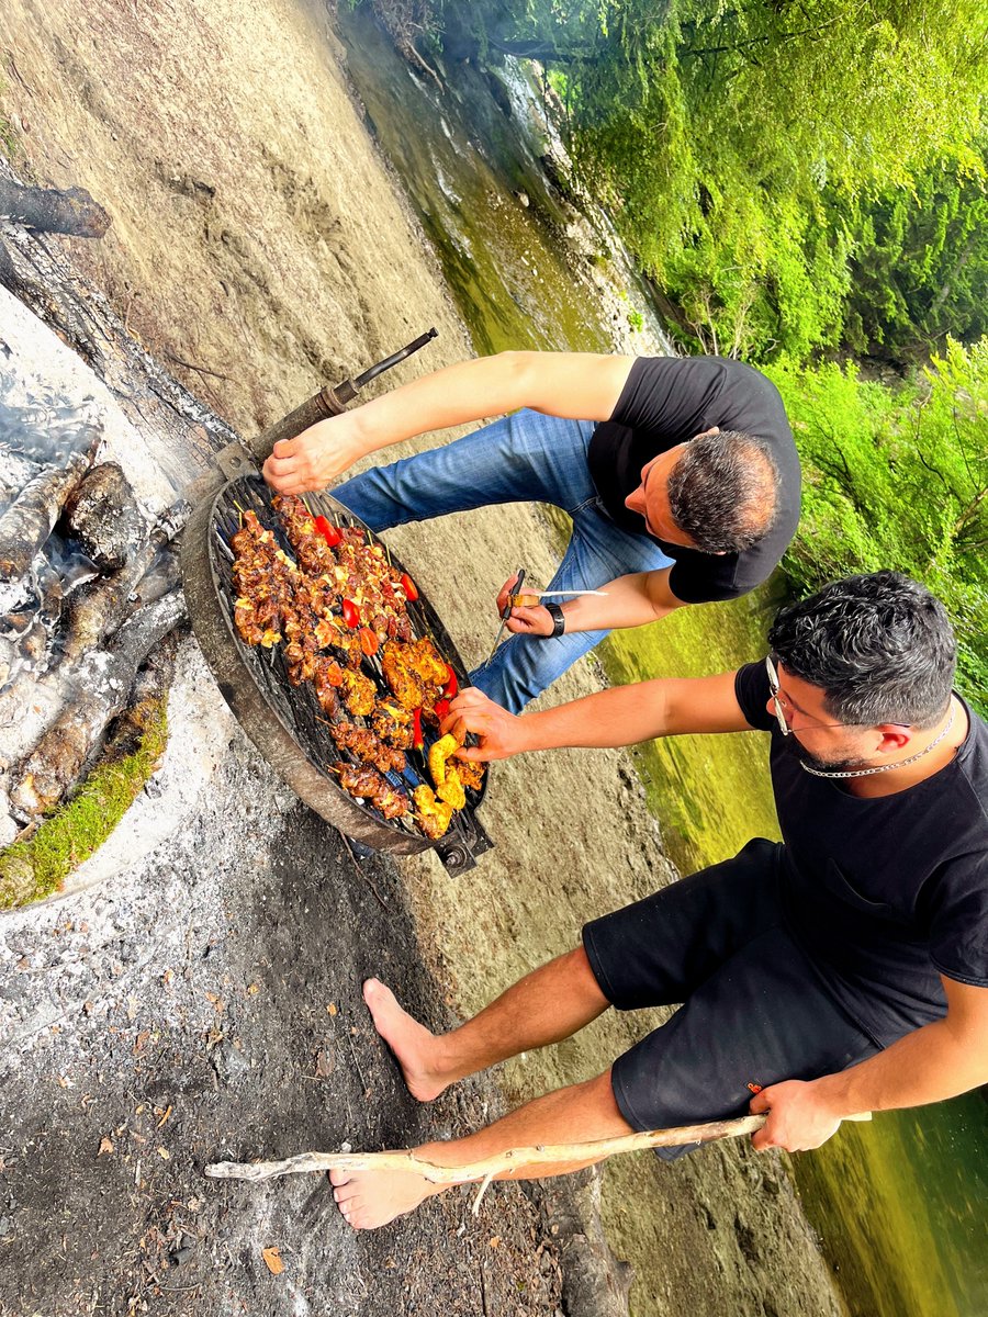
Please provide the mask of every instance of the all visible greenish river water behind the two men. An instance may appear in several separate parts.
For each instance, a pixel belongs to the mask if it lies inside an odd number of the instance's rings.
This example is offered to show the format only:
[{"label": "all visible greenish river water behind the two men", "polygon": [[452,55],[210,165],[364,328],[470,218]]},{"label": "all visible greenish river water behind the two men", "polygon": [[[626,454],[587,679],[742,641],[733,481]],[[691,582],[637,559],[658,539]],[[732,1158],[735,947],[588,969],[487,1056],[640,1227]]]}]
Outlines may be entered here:
[{"label": "all visible greenish river water behind the two men", "polygon": [[[615,313],[627,319],[632,307],[649,331],[639,350],[671,350],[647,345],[661,338],[643,290],[632,286],[617,312],[602,298],[611,237],[565,254],[560,234],[573,217],[541,178],[539,145],[519,146],[474,68],[457,67],[456,90],[440,95],[362,12],[343,7],[340,21],[370,126],[402,173],[478,353],[607,352]],[[755,597],[747,608],[682,610],[672,626],[623,632],[609,668],[636,680],[736,666],[764,653],[769,611]],[[760,738],[684,738],[642,755],[649,798],[661,802],[667,832],[672,822],[681,834],[677,859],[709,864],[751,835],[777,835]],[[854,1317],[988,1314],[985,1154],[988,1104],[971,1094],[844,1126],[797,1159],[808,1214]]]}]

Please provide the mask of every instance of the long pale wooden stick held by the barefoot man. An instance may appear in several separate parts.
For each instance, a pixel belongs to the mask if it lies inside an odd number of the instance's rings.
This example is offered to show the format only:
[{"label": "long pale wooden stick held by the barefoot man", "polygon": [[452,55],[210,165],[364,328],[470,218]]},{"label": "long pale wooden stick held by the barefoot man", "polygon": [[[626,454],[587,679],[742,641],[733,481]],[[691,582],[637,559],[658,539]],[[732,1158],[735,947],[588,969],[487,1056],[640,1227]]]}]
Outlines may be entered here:
[{"label": "long pale wooden stick held by the barefoot man", "polygon": [[[206,1173],[213,1180],[273,1180],[281,1175],[299,1175],[308,1171],[411,1171],[429,1184],[466,1184],[472,1180],[491,1180],[502,1171],[514,1175],[528,1166],[564,1164],[566,1162],[601,1162],[618,1152],[636,1152],[642,1148],[677,1147],[680,1143],[710,1143],[714,1139],[740,1138],[760,1130],[767,1115],[743,1115],[735,1121],[710,1121],[706,1125],[680,1125],[669,1130],[645,1130],[640,1134],[622,1134],[593,1143],[553,1143],[544,1147],[508,1148],[482,1162],[466,1166],[436,1166],[411,1151],[389,1152],[300,1152],[282,1162],[213,1162]],[[847,1117],[869,1121],[871,1115]]]}]

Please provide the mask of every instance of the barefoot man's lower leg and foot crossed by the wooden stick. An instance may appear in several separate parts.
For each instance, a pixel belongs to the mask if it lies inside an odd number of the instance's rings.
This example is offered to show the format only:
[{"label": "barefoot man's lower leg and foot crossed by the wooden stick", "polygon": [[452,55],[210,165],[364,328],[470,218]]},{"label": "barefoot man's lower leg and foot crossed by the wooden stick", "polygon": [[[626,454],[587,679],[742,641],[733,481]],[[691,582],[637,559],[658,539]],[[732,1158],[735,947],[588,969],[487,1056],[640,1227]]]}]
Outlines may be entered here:
[{"label": "barefoot man's lower leg and foot crossed by the wooden stick", "polygon": [[[614,1101],[610,1071],[605,1071],[586,1084],[574,1084],[537,1097],[464,1139],[424,1143],[415,1151],[439,1166],[466,1166],[508,1148],[586,1143],[630,1133],[631,1126]],[[497,1179],[536,1180],[547,1175],[566,1175],[590,1164],[591,1160],[531,1166],[519,1175],[505,1171]],[[387,1225],[395,1217],[412,1212],[425,1198],[449,1188],[429,1184],[420,1175],[408,1171],[331,1171],[329,1179],[335,1185],[333,1197],[340,1212],[356,1230],[375,1230]]]}]

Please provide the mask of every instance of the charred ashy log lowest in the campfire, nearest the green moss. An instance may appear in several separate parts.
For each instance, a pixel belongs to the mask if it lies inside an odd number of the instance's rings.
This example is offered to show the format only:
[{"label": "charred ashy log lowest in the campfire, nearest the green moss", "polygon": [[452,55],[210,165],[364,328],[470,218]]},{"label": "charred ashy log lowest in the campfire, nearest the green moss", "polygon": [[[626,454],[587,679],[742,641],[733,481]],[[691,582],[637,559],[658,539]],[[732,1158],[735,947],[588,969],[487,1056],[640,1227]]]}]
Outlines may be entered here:
[{"label": "charred ashy log lowest in the campfire, nearest the green moss", "polygon": [[55,719],[12,777],[11,803],[32,819],[59,803],[76,782],[109,722],[130,698],[148,653],[186,616],[179,590],[134,614],[103,652],[88,655],[76,674],[82,691]]}]

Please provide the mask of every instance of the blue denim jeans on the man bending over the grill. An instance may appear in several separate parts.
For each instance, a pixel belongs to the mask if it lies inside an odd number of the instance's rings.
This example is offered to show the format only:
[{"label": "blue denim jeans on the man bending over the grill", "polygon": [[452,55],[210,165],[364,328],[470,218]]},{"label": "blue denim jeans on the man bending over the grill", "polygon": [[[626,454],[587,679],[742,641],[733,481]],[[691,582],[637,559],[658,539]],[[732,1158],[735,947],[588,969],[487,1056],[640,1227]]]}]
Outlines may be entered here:
[{"label": "blue denim jeans on the man bending over the grill", "polygon": [[[622,531],[603,510],[586,461],[593,431],[593,421],[520,411],[443,448],[374,468],[333,497],[373,531],[493,503],[552,503],[569,512],[573,533],[547,590],[599,590],[615,577],[671,566],[652,540]],[[511,568],[505,564],[506,577]],[[520,712],[606,635],[511,636],[470,681]]]}]

